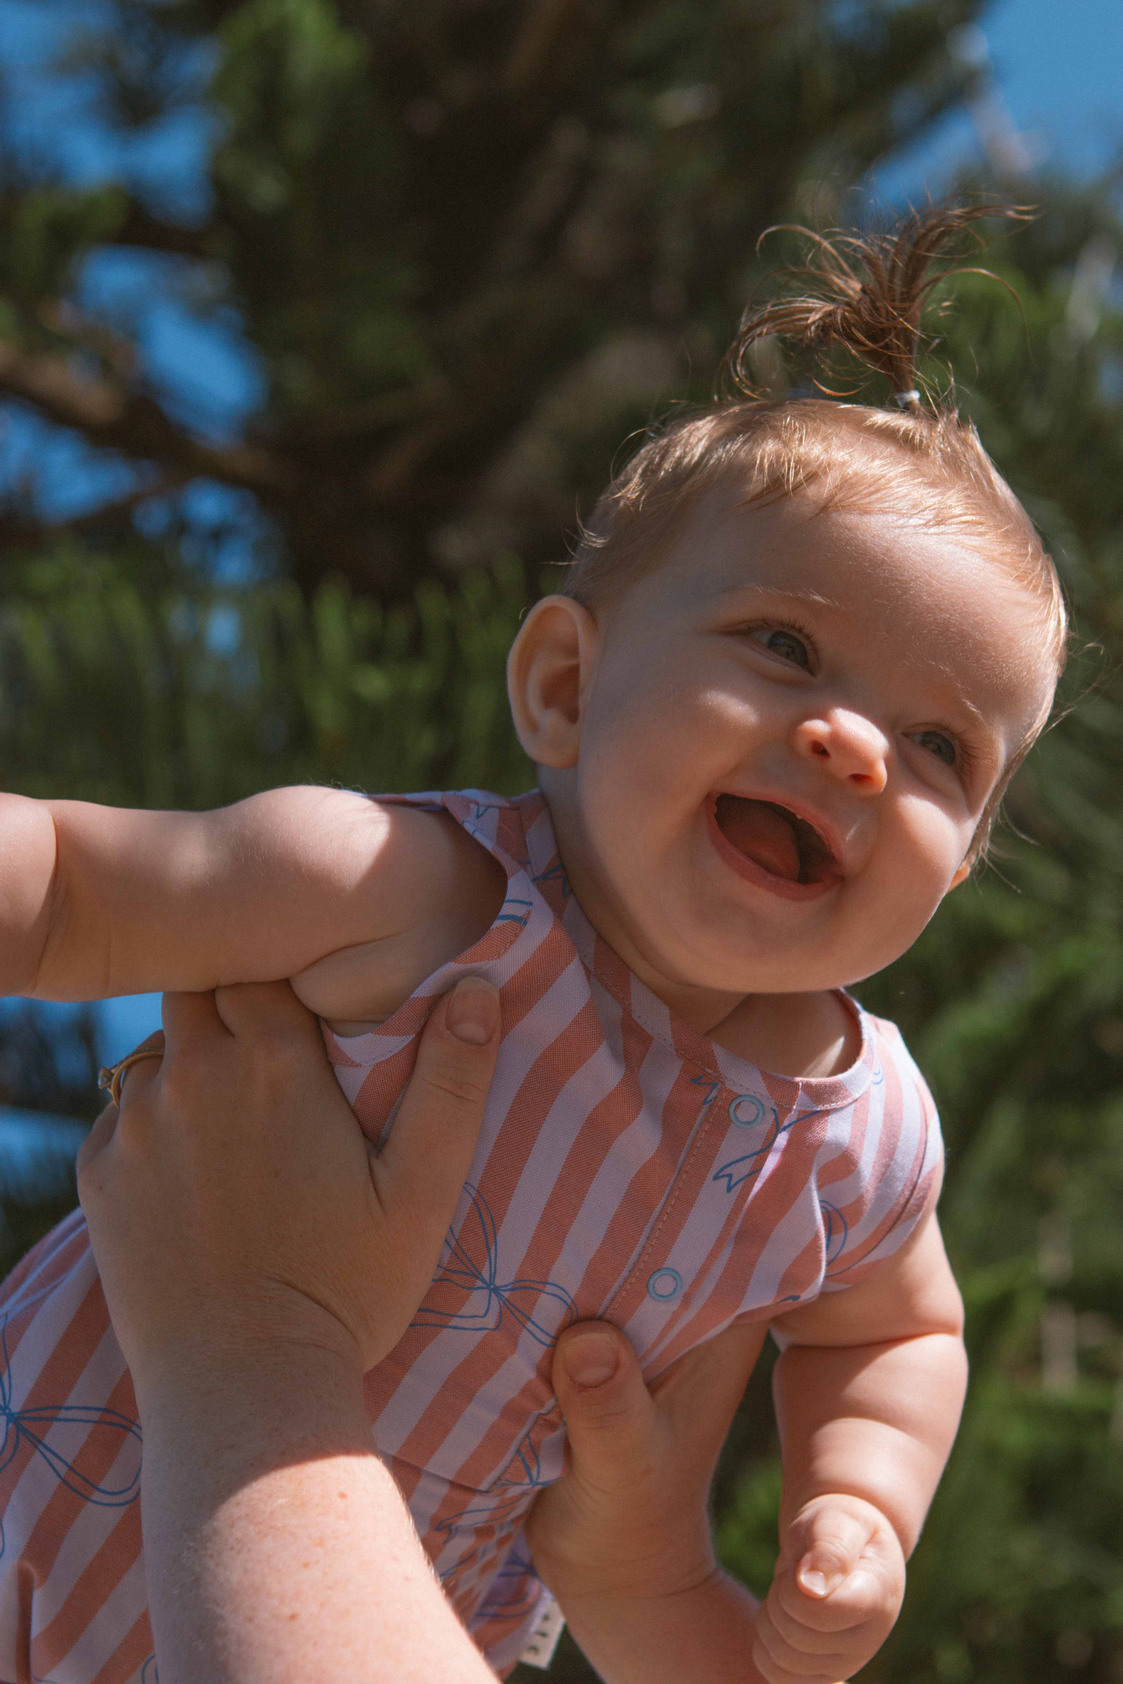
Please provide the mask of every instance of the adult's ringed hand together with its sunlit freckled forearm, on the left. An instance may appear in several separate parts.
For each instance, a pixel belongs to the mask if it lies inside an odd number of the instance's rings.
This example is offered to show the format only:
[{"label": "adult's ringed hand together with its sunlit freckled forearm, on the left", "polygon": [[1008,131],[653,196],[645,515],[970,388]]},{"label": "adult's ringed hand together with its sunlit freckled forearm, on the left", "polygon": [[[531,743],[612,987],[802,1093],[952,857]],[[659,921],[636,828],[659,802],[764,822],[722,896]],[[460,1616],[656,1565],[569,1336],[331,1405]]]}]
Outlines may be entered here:
[{"label": "adult's ringed hand together with its sunlit freckled forearm, on the left", "polygon": [[493,1684],[374,1453],[362,1374],[463,1186],[498,995],[433,1010],[374,1155],[286,983],[165,999],[79,1192],[145,1433],[162,1684]]}]

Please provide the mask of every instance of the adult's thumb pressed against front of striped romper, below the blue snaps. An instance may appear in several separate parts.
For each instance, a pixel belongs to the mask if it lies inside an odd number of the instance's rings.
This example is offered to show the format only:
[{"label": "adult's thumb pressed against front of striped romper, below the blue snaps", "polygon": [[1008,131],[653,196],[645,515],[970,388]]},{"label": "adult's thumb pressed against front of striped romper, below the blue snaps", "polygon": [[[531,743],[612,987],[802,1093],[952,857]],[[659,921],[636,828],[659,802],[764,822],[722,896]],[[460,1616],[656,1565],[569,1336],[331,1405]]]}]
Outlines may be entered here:
[{"label": "adult's thumb pressed against front of striped romper, below the blue snaps", "polygon": [[658,1457],[657,1413],[628,1339],[608,1322],[577,1322],[554,1351],[554,1393],[574,1470],[613,1487]]}]

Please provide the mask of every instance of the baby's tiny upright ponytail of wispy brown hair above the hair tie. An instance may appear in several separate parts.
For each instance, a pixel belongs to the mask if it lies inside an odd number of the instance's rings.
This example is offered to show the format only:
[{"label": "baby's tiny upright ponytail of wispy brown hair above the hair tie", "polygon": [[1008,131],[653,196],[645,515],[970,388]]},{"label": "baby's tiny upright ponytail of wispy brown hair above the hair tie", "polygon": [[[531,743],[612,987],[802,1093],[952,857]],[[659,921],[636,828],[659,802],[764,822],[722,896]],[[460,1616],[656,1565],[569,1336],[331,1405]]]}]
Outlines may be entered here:
[{"label": "baby's tiny upright ponytail of wispy brown hair above the hair tie", "polygon": [[[795,340],[820,359],[844,350],[872,372],[884,374],[896,406],[916,414],[924,408],[918,362],[924,349],[923,318],[929,293],[950,274],[990,273],[961,261],[965,236],[982,246],[975,222],[983,217],[1027,221],[1030,214],[1022,205],[929,205],[914,210],[887,234],[827,236],[781,224],[810,242],[808,261],[780,269],[780,296],[746,312],[722,372],[737,392],[758,397],[748,367],[758,340]],[[820,386],[820,391],[827,387]]]}]

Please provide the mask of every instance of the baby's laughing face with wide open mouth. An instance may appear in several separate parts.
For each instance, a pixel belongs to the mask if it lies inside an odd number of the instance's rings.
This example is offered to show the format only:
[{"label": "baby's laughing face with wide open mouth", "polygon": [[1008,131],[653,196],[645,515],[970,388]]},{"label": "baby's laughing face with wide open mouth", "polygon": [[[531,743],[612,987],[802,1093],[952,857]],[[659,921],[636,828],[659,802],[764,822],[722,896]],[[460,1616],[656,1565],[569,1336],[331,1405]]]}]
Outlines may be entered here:
[{"label": "baby's laughing face with wide open mouth", "polygon": [[667,999],[897,958],[1052,689],[1039,605],[1000,566],[805,497],[712,493],[596,621],[551,802],[581,904]]}]

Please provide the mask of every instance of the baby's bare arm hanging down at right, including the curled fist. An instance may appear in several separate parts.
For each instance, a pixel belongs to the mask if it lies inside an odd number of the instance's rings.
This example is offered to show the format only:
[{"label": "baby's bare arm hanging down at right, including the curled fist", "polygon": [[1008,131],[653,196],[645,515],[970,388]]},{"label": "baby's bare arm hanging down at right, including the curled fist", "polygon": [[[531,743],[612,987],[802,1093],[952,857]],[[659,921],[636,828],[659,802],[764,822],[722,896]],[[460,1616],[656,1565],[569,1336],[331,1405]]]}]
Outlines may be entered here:
[{"label": "baby's bare arm hanging down at right, including the curled fist", "polygon": [[780,1559],[756,1622],[769,1684],[859,1671],[889,1635],[963,1408],[963,1307],[929,1209],[862,1285],[776,1322]]}]

